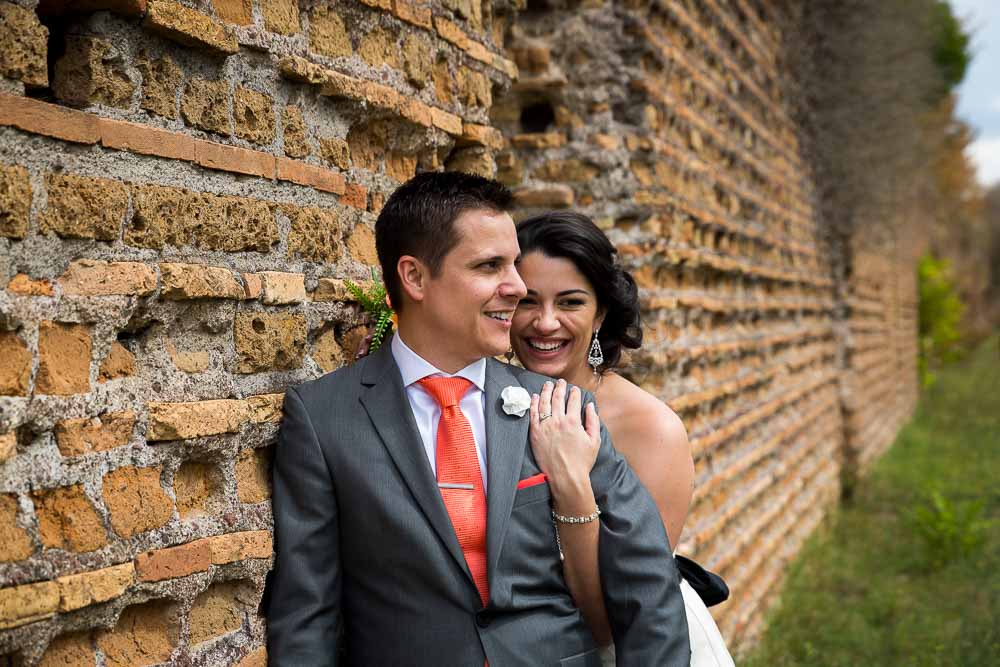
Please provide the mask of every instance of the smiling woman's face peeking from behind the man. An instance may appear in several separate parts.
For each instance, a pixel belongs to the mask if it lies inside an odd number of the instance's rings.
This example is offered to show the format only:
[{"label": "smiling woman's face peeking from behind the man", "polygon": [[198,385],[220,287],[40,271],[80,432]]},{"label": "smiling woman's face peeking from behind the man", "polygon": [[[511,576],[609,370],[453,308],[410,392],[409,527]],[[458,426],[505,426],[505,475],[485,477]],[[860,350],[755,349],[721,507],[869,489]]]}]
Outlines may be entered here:
[{"label": "smiling woman's face peeking from behind the man", "polygon": [[517,304],[510,342],[525,368],[569,381],[590,373],[587,352],[604,314],[594,288],[568,259],[533,251],[517,266],[528,294]]}]

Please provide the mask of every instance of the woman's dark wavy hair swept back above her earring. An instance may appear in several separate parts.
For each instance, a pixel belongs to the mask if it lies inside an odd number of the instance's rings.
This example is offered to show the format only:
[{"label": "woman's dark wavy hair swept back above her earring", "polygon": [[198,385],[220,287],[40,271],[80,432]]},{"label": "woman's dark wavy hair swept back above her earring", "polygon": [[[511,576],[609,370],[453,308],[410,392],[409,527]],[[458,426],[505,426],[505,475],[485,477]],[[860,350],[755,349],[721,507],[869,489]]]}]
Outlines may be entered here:
[{"label": "woman's dark wavy hair swept back above her earring", "polygon": [[517,242],[522,257],[541,252],[568,259],[594,288],[598,306],[605,311],[597,334],[604,351],[601,372],[618,365],[623,347],[634,350],[642,345],[639,289],[615,261],[618,251],[593,220],[573,211],[536,215],[518,223]]}]

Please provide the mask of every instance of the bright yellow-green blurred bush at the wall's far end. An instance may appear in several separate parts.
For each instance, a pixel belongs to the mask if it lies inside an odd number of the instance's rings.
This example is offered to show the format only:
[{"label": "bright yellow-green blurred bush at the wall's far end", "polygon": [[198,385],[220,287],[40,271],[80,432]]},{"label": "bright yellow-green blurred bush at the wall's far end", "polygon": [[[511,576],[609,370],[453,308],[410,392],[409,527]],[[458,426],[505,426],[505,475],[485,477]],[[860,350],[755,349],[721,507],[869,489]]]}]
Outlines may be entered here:
[{"label": "bright yellow-green blurred bush at the wall's far end", "polygon": [[946,259],[931,254],[920,258],[917,267],[919,290],[919,325],[921,383],[934,383],[934,370],[944,363],[956,361],[962,353],[959,325],[965,306],[958,296]]}]

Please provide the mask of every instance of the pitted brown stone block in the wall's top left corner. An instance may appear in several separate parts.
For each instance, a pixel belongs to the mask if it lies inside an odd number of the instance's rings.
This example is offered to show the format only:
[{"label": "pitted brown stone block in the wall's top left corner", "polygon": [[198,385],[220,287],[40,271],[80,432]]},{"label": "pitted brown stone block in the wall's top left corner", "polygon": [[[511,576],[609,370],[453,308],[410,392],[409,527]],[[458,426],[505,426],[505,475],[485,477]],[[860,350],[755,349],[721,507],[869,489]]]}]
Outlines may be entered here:
[{"label": "pitted brown stone block in the wall's top left corner", "polygon": [[10,2],[0,3],[0,75],[29,86],[49,84],[49,30],[35,12]]}]

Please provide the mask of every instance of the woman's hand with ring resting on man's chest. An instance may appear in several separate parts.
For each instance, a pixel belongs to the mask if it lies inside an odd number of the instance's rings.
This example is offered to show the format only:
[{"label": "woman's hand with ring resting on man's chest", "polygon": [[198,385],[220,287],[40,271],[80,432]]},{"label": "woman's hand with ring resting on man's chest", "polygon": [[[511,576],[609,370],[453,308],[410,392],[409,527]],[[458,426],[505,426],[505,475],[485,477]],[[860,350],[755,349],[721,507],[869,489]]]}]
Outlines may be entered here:
[{"label": "woman's hand with ring resting on man's chest", "polygon": [[562,514],[594,511],[590,470],[601,446],[601,422],[588,403],[586,424],[581,423],[581,402],[578,387],[569,390],[567,400],[565,380],[546,382],[541,394],[531,397],[531,451]]}]

